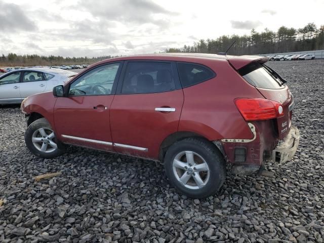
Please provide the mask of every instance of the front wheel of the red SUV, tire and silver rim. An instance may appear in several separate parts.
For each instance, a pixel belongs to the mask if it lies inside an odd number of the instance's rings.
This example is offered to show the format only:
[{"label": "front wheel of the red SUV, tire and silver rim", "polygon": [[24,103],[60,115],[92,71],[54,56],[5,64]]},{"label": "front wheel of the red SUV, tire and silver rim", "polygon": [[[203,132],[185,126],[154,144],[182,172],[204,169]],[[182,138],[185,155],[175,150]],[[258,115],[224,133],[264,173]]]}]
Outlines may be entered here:
[{"label": "front wheel of the red SUV, tire and silver rim", "polygon": [[55,158],[63,153],[62,145],[45,118],[37,119],[28,126],[25,143],[30,152],[41,158]]}]

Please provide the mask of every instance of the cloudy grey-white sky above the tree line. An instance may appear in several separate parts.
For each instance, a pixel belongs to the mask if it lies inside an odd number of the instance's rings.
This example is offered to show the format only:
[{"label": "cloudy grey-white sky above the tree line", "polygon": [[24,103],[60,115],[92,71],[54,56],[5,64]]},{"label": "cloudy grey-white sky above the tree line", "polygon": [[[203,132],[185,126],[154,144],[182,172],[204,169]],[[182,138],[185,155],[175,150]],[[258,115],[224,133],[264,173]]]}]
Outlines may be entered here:
[{"label": "cloudy grey-white sky above the tree line", "polygon": [[199,39],[324,24],[323,0],[0,0],[0,55],[162,52]]}]

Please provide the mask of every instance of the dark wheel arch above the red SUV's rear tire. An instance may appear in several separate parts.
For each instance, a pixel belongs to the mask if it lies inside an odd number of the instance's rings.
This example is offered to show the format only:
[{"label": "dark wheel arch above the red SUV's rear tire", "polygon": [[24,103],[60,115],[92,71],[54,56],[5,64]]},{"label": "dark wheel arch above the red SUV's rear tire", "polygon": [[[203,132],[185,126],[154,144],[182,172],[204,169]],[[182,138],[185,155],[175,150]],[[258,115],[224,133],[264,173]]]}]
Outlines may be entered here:
[{"label": "dark wheel arch above the red SUV's rear tire", "polygon": [[163,162],[163,159],[164,159],[165,154],[166,154],[166,152],[168,150],[168,147],[170,147],[175,142],[183,140],[185,138],[204,139],[207,142],[209,142],[210,144],[212,144],[217,150],[219,150],[223,154],[223,151],[221,151],[222,149],[220,149],[219,146],[217,146],[214,142],[210,141],[209,139],[207,139],[203,135],[200,135],[200,134],[194,133],[194,132],[189,132],[189,131],[179,131],[179,132],[170,134],[168,137],[166,137],[163,140],[163,142],[161,143],[161,145],[159,147],[158,159]]}]

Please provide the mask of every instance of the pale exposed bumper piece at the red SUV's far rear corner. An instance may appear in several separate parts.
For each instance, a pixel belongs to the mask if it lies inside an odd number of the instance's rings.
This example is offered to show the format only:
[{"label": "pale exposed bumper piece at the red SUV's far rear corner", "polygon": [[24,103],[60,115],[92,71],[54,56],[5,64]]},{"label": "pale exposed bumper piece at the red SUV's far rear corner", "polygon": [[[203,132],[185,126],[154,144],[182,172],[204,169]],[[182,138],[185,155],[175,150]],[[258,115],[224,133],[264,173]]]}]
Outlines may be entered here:
[{"label": "pale exposed bumper piece at the red SUV's far rear corner", "polygon": [[292,126],[286,138],[280,141],[277,147],[272,150],[272,161],[279,164],[285,163],[295,155],[298,144],[299,130]]}]

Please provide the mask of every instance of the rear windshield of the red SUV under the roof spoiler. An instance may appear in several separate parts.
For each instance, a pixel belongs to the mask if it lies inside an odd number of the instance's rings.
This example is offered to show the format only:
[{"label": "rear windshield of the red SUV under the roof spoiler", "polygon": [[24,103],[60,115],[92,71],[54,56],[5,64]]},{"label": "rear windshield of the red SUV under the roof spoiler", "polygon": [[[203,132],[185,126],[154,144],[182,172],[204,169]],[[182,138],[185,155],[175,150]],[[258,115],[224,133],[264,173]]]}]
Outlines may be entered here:
[{"label": "rear windshield of the red SUV under the roof spoiler", "polygon": [[257,88],[277,90],[285,87],[275,73],[260,63],[241,68],[239,73]]}]

